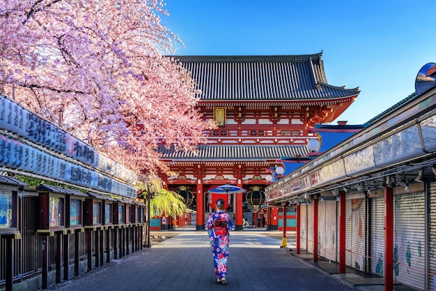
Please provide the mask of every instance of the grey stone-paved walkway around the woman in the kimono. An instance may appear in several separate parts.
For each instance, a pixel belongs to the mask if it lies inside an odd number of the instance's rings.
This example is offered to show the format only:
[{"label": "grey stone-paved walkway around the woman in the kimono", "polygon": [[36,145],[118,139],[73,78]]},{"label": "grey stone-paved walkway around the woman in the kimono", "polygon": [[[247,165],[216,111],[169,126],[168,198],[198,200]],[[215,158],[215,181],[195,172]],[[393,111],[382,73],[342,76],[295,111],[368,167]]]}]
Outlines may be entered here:
[{"label": "grey stone-paved walkway around the woman in the kimono", "polygon": [[325,271],[334,267],[322,269],[305,260],[304,253],[303,258],[293,255],[291,238],[289,248],[280,248],[282,234],[278,231],[231,233],[228,285],[216,283],[207,232],[180,227],[152,234],[169,238],[49,290],[358,290]]}]

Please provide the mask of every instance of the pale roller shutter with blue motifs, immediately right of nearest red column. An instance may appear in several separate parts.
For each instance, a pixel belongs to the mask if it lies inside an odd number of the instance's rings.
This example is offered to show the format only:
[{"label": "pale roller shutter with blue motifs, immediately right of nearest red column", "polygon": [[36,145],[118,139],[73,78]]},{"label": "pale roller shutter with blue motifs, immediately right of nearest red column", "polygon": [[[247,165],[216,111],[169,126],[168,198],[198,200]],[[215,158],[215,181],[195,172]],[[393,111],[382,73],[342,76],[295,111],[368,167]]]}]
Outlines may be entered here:
[{"label": "pale roller shutter with blue motifs, immediately right of nearest red column", "polygon": [[395,195],[394,279],[423,290],[425,274],[425,195]]}]

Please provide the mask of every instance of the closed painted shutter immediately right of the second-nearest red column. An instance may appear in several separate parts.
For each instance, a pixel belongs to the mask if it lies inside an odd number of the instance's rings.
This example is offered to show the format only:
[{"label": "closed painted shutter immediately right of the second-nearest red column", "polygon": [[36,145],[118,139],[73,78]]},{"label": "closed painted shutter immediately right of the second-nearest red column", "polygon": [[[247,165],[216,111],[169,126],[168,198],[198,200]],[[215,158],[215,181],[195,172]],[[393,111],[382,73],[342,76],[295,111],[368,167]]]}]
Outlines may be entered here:
[{"label": "closed painted shutter immediately right of the second-nearest red column", "polygon": [[345,209],[345,264],[363,271],[365,267],[365,198],[346,200]]}]

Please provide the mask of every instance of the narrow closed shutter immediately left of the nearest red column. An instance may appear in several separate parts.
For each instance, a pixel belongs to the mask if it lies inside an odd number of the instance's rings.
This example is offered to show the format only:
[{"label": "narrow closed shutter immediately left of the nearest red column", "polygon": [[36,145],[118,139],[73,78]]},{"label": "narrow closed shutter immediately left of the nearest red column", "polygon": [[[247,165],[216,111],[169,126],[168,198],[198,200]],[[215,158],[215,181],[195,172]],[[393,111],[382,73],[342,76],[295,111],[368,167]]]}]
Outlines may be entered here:
[{"label": "narrow closed shutter immediately left of the nearest red column", "polygon": [[384,197],[374,197],[371,203],[370,272],[384,276]]}]

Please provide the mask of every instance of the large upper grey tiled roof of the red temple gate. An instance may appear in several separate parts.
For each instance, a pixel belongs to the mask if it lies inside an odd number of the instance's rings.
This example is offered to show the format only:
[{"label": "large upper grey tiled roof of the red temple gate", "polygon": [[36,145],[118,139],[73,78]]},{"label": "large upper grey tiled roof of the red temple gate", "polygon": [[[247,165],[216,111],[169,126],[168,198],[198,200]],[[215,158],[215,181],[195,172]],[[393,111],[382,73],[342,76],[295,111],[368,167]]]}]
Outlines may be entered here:
[{"label": "large upper grey tiled roof of the red temple gate", "polygon": [[284,56],[175,56],[201,100],[307,100],[359,93],[327,84],[322,52]]}]

